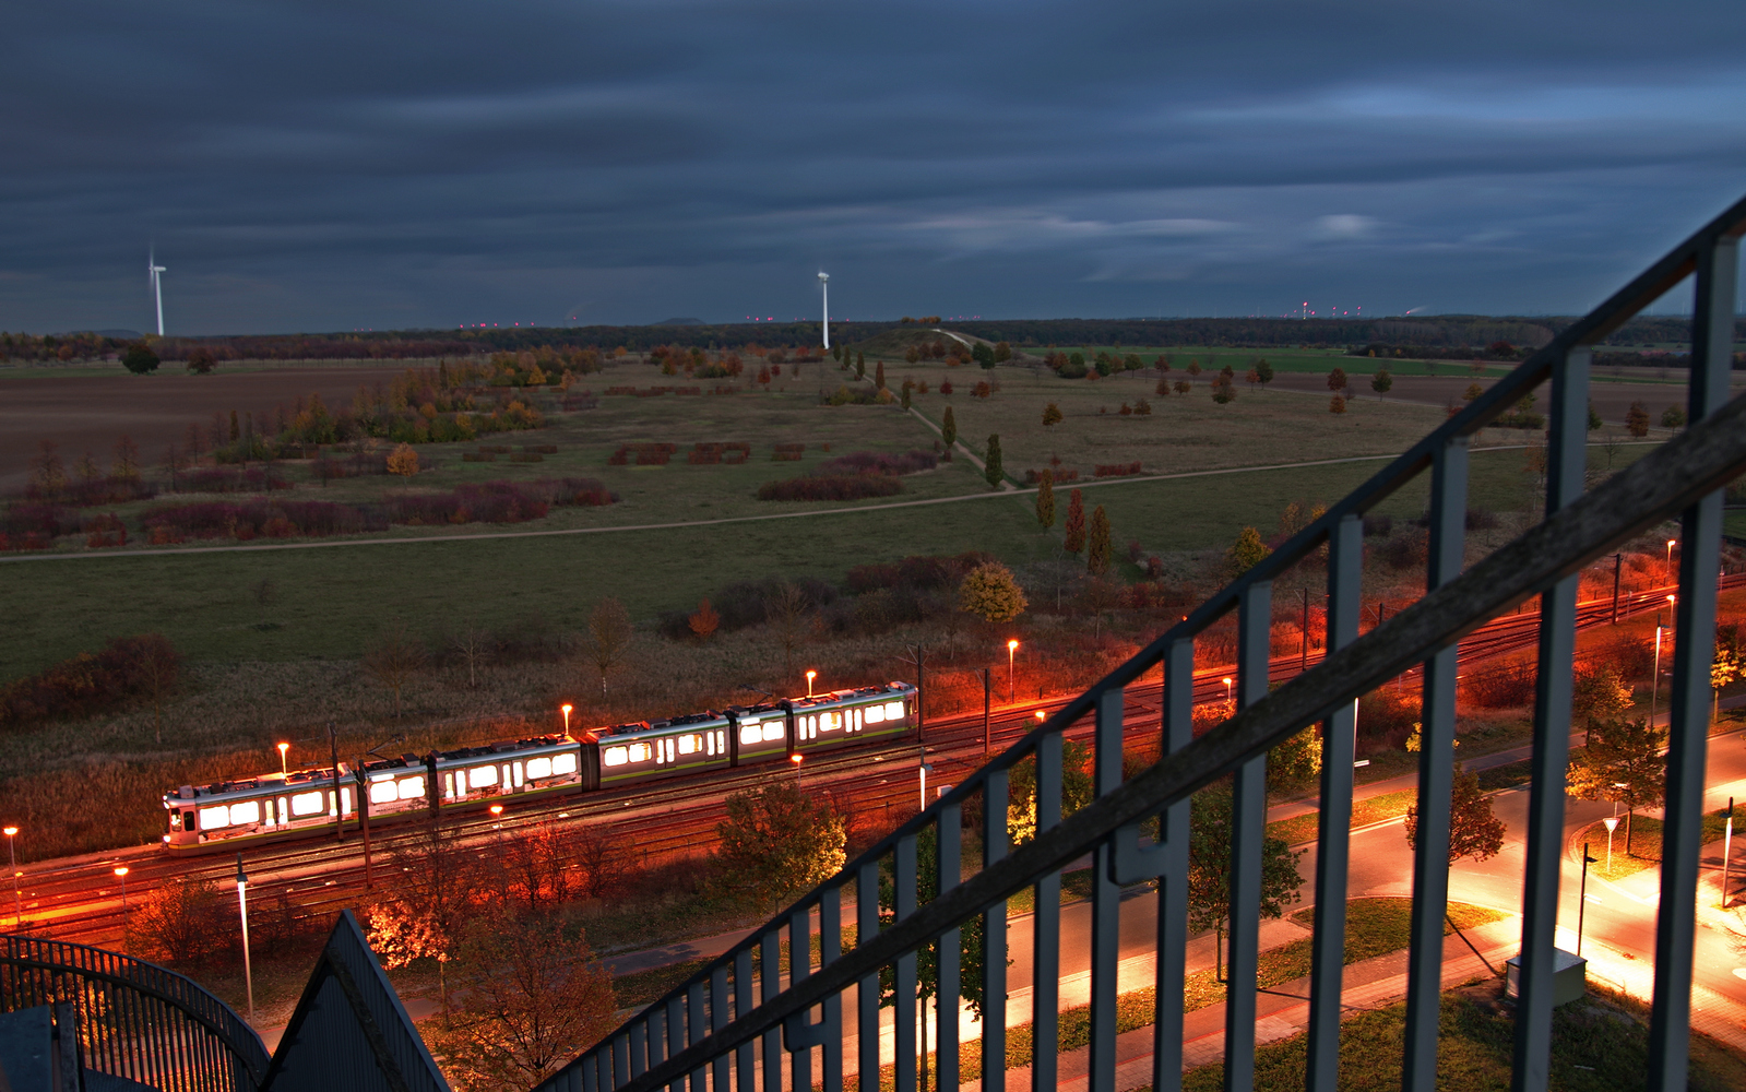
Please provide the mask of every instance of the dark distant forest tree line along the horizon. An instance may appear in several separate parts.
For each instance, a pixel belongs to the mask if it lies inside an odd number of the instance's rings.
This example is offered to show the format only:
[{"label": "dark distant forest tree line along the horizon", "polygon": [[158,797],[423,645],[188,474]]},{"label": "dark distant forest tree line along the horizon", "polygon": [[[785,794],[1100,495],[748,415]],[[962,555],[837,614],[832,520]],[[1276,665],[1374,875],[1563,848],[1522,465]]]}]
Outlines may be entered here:
[{"label": "dark distant forest tree line along the horizon", "polygon": [[[1428,318],[1027,318],[1000,321],[953,321],[960,334],[1013,346],[1213,346],[1213,348],[1318,348],[1365,351],[1372,346],[1400,356],[1467,355],[1496,342],[1528,349],[1543,346],[1570,318],[1491,318],[1442,314]],[[897,321],[831,323],[833,341],[854,344]],[[1746,320],[1736,320],[1736,339],[1746,341]],[[1683,316],[1636,318],[1603,342],[1620,349],[1685,344],[1690,320]],[[723,323],[648,327],[512,327],[508,330],[372,330],[361,334],[258,334],[222,337],[148,339],[164,362],[187,362],[190,353],[210,355],[213,363],[234,360],[433,360],[519,353],[538,348],[623,348],[646,353],[656,346],[726,349],[747,342],[803,346],[819,341],[819,323]],[[110,334],[7,334],[0,332],[0,360],[52,363],[119,360],[134,344]],[[1378,356],[1383,356],[1378,351]],[[1620,353],[1615,363],[1678,367],[1678,358]]]}]

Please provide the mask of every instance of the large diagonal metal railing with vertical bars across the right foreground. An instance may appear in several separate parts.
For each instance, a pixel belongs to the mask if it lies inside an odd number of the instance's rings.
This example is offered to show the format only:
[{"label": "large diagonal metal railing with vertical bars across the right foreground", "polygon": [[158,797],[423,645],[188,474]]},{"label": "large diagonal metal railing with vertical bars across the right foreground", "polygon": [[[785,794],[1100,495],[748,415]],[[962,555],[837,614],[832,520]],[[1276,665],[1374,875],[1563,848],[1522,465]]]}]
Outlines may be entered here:
[{"label": "large diagonal metal railing with vertical bars across the right foreground", "polygon": [[[541,1085],[571,1092],[681,1092],[714,1087],[766,1092],[821,1087],[840,1092],[845,1066],[845,1003],[857,1040],[863,1092],[878,1092],[882,1066],[896,1092],[918,1076],[918,956],[929,945],[938,998],[960,996],[960,931],[980,924],[981,1071],[1006,1071],[1006,900],[1034,889],[1032,1089],[1058,1083],[1062,868],[1091,854],[1090,1089],[1116,1092],[1117,940],[1121,886],[1158,881],[1152,1089],[1182,1082],[1182,996],[1187,943],[1189,797],[1231,778],[1229,982],[1224,1019],[1226,1089],[1248,1089],[1255,1073],[1257,980],[1269,748],[1320,723],[1323,764],[1315,888],[1306,1087],[1336,1089],[1346,879],[1353,790],[1355,701],[1423,666],[1418,839],[1413,870],[1411,947],[1404,1027],[1404,1087],[1435,1085],[1442,987],[1442,923],[1447,903],[1449,797],[1454,746],[1458,641],[1531,596],[1540,599],[1538,683],[1533,709],[1533,781],[1523,889],[1523,966],[1516,1010],[1516,1089],[1547,1087],[1552,1027],[1552,952],[1564,825],[1575,596],[1578,571],[1617,543],[1678,515],[1683,524],[1676,653],[1667,753],[1664,867],[1655,949],[1650,1087],[1685,1085],[1692,943],[1701,842],[1701,802],[1713,655],[1720,487],[1746,468],[1746,398],[1727,404],[1737,239],[1746,201],[1676,246],[1601,308],[1561,332],[1413,451],[1336,503],[1193,615],[1069,702],[1018,744],[964,779],[838,875],[808,893],[747,940],[623,1024]],[[1591,346],[1695,274],[1688,428],[1627,470],[1585,491]],[[1545,519],[1491,556],[1465,566],[1468,440],[1484,425],[1550,383]],[[1419,473],[1430,473],[1426,594],[1358,638],[1362,517]],[[1325,554],[1323,554],[1325,550]],[[1325,557],[1325,561],[1322,559]],[[1271,585],[1294,566],[1325,564],[1327,659],[1278,690],[1268,688]],[[1465,566],[1465,571],[1463,571]],[[1236,713],[1193,737],[1194,641],[1236,615]],[[1123,779],[1124,688],[1163,667],[1163,758]],[[1095,718],[1095,798],[1062,816],[1062,732]],[[1035,835],[1009,839],[1007,790],[1014,767],[1034,760]],[[981,811],[981,868],[960,879],[966,807]],[[1158,819],[1158,840],[1140,830]],[[931,900],[917,898],[918,853],[932,851]],[[880,874],[892,877],[894,907],[882,921]],[[854,907],[856,942],[843,949],[842,907]],[[796,956],[784,975],[784,933]],[[803,954],[817,943],[819,959]],[[756,966],[754,966],[756,959]],[[880,1041],[882,971],[896,1008]],[[924,1024],[925,1034],[925,1024]],[[938,1027],[938,1089],[959,1075],[959,1022]],[[787,1071],[784,1076],[784,1069]],[[995,1076],[995,1087],[1002,1082]]]}]

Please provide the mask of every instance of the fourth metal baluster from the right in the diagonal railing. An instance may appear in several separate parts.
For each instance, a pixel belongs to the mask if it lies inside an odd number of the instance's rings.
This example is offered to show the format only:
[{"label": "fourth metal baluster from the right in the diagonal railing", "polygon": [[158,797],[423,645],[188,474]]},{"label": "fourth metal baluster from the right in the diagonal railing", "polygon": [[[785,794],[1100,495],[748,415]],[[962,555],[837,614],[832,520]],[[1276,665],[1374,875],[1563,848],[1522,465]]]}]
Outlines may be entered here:
[{"label": "fourth metal baluster from the right in the diagonal railing", "polygon": [[[1329,535],[1327,652],[1358,639],[1364,587],[1364,521],[1346,515]],[[1339,999],[1346,968],[1346,870],[1351,860],[1351,762],[1357,702],[1322,725],[1322,816],[1316,819],[1315,936],[1310,950],[1306,1092],[1336,1092]]]}]

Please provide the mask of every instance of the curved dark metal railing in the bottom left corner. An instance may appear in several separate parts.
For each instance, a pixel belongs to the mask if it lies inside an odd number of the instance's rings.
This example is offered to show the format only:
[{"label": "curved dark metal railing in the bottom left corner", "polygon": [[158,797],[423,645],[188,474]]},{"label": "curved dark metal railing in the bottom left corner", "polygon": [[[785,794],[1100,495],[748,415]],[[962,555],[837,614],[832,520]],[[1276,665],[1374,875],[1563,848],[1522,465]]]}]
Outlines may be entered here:
[{"label": "curved dark metal railing in the bottom left corner", "polygon": [[84,1069],[166,1092],[255,1092],[260,1036],[175,971],[117,952],[0,936],[0,1010],[72,1005]]}]

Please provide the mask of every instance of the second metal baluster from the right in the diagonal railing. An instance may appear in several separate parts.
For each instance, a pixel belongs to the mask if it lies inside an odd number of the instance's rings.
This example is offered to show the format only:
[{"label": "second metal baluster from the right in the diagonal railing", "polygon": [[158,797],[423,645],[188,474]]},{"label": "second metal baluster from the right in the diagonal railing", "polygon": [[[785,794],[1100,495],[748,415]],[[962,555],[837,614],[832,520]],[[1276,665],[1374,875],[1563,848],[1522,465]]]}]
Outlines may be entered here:
[{"label": "second metal baluster from the right in the diagonal railing", "polygon": [[[1591,349],[1571,349],[1552,370],[1545,475],[1549,517],[1582,496],[1589,468],[1589,360]],[[1564,771],[1570,765],[1578,582],[1580,577],[1566,577],[1540,596],[1528,861],[1523,870],[1521,996],[1516,1001],[1514,1085],[1521,1092],[1545,1089],[1552,1062],[1552,945],[1559,868],[1564,863]]]}]

